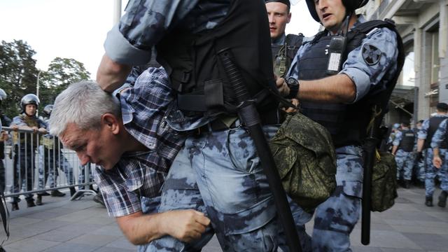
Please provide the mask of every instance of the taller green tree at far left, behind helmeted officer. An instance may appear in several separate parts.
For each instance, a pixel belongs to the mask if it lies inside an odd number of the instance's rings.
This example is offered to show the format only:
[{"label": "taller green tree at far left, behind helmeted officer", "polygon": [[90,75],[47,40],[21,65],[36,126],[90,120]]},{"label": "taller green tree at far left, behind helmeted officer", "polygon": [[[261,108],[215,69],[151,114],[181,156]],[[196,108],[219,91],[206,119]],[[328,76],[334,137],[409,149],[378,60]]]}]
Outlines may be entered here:
[{"label": "taller green tree at far left, behind helmeted officer", "polygon": [[8,97],[2,102],[3,111],[13,118],[20,113],[20,99],[25,94],[36,92],[36,52],[24,41],[1,41],[0,87]]}]

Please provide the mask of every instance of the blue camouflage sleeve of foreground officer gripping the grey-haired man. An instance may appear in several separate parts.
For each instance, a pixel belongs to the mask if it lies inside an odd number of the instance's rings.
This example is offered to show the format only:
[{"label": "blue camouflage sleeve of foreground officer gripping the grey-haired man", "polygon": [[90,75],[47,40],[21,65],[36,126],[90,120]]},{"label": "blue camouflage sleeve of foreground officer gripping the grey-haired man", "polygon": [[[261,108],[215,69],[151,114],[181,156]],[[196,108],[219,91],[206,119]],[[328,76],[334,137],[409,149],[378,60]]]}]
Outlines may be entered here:
[{"label": "blue camouflage sleeve of foreground officer gripping the grey-haired man", "polygon": [[225,18],[230,0],[130,1],[118,25],[107,34],[106,54],[115,62],[146,64],[151,48],[173,27],[193,33],[213,29]]}]

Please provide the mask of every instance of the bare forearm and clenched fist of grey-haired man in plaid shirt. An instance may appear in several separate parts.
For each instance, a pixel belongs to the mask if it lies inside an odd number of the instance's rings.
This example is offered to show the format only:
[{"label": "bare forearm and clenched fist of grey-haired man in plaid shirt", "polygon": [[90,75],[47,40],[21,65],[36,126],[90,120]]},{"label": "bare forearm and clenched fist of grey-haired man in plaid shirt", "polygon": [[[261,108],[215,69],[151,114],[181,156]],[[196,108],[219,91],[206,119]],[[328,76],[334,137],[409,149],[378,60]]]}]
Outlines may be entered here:
[{"label": "bare forearm and clenched fist of grey-haired man in plaid shirt", "polygon": [[117,223],[132,244],[147,244],[165,235],[181,241],[199,239],[210,224],[209,218],[195,210],[143,214],[141,211],[117,217]]}]

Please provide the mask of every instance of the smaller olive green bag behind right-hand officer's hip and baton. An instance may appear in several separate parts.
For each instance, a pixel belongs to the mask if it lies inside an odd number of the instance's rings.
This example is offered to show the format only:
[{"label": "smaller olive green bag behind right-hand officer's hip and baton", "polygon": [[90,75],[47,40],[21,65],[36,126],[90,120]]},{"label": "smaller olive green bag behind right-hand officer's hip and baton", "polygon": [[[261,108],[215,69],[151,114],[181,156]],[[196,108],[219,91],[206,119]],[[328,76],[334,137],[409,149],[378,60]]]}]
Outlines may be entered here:
[{"label": "smaller olive green bag behind right-hand officer's hip and baton", "polygon": [[370,211],[385,211],[393,206],[397,194],[397,164],[388,152],[377,153],[372,170]]}]

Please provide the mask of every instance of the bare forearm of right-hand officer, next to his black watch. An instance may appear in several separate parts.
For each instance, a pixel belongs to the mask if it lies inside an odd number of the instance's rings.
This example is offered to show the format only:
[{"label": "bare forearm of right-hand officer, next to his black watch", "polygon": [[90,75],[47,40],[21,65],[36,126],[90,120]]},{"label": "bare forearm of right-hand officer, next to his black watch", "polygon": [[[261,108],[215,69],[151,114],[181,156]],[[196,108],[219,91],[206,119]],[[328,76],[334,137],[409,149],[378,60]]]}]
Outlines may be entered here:
[{"label": "bare forearm of right-hand officer, next to his black watch", "polygon": [[353,102],[356,87],[351,78],[337,74],[320,80],[299,80],[299,100],[313,102]]}]

